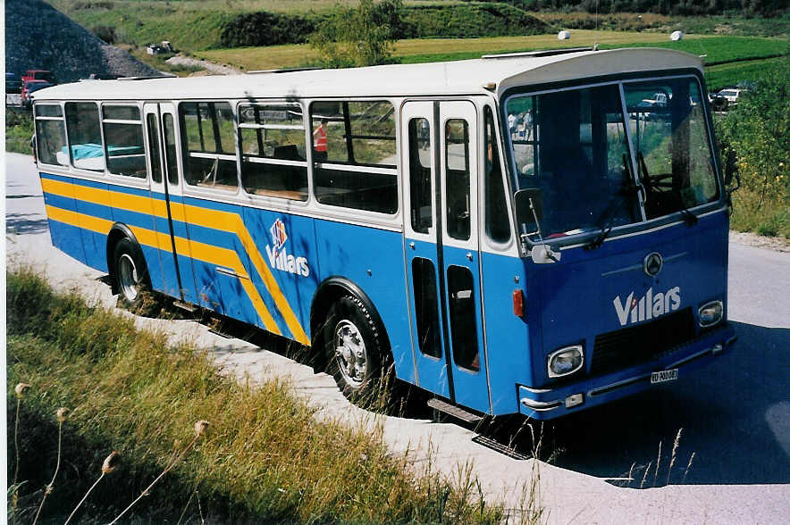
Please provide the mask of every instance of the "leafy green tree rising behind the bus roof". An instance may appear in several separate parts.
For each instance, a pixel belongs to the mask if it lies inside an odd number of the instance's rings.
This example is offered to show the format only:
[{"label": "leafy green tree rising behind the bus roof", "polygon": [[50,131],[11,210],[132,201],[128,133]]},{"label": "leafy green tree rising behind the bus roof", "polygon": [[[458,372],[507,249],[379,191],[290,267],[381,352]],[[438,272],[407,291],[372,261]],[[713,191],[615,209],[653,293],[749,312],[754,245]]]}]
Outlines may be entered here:
[{"label": "leafy green tree rising behind the bus roof", "polygon": [[401,0],[361,0],[356,9],[337,4],[310,37],[310,46],[326,67],[391,63],[402,6]]}]

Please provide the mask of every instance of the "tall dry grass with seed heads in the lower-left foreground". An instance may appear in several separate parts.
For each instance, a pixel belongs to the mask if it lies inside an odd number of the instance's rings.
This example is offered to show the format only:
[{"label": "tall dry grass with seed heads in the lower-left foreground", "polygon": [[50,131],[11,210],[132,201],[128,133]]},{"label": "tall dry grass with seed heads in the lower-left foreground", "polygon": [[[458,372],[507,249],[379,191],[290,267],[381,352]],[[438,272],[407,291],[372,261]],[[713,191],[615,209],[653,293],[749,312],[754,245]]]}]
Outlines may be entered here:
[{"label": "tall dry grass with seed heads in the lower-left foreground", "polygon": [[[444,480],[430,464],[411,467],[388,453],[380,432],[316,423],[313,409],[283,382],[240,385],[195,348],[167,346],[163,334],[139,331],[73,293],[55,294],[31,271],[10,271],[7,282],[8,384],[31,385],[21,403],[19,448],[7,455],[9,472],[19,468],[27,481],[21,522],[32,520],[42,496],[36,487],[54,469],[52,413],[59,406],[71,407],[66,466],[39,522],[62,522],[114,449],[122,457],[118,471],[74,517],[113,519],[189,443],[198,420],[211,421],[212,433],[125,520],[195,520],[198,512],[223,522],[506,519],[474,489],[473,477]],[[11,417],[13,393],[8,399]]]}]

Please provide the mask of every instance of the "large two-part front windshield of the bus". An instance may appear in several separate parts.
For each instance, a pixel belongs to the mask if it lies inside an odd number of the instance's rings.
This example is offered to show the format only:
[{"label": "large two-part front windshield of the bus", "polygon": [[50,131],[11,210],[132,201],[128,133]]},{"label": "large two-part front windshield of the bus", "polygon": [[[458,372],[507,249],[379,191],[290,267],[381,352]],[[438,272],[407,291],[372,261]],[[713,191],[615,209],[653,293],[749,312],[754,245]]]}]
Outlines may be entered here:
[{"label": "large two-part front windshield of the bus", "polygon": [[622,87],[625,100],[618,83],[508,99],[515,189],[542,190],[544,237],[651,220],[719,198],[696,80]]}]

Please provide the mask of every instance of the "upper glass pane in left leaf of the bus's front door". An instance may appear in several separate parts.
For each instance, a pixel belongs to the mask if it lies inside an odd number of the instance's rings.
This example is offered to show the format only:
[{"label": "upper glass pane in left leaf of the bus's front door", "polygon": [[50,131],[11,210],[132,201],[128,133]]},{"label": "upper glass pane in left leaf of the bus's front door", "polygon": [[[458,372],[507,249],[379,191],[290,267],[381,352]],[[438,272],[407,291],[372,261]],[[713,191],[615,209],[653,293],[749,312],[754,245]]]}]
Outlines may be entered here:
[{"label": "upper glass pane in left leaf of the bus's front door", "polygon": [[433,226],[431,191],[431,125],[427,119],[408,122],[408,187],[411,191],[411,227],[428,233]]}]

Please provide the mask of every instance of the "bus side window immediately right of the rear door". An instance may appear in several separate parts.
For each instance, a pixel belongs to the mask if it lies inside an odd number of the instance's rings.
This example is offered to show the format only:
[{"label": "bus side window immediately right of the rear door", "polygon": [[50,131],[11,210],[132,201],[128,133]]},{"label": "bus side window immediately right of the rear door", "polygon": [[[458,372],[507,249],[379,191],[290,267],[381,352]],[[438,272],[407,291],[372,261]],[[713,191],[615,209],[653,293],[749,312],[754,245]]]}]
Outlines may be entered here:
[{"label": "bus side window immediately right of the rear door", "polygon": [[236,148],[233,112],[226,102],[179,104],[181,127],[186,138],[184,180],[190,186],[235,191]]}]

